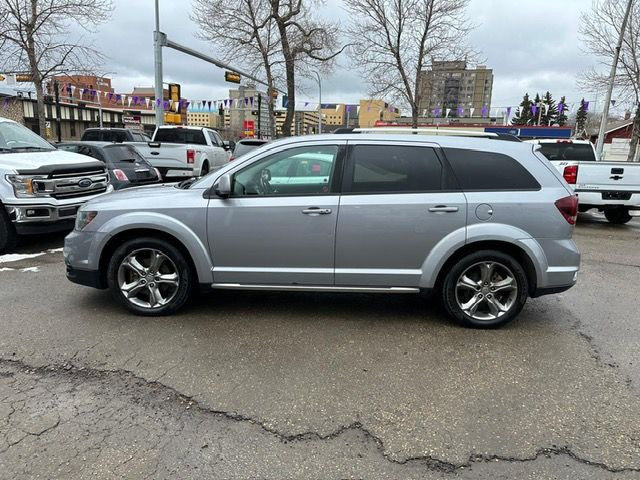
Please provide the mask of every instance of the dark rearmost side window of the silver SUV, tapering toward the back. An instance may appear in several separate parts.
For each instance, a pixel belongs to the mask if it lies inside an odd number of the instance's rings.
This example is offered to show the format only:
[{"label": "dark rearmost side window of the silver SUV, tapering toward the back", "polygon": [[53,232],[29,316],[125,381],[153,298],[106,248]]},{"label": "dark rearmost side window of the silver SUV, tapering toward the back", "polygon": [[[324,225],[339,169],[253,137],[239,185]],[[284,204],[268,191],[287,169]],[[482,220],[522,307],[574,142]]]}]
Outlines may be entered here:
[{"label": "dark rearmost side window of the silver SUV, tapering toward the back", "polygon": [[540,190],[540,184],[508,155],[445,148],[453,173],[463,190]]}]

